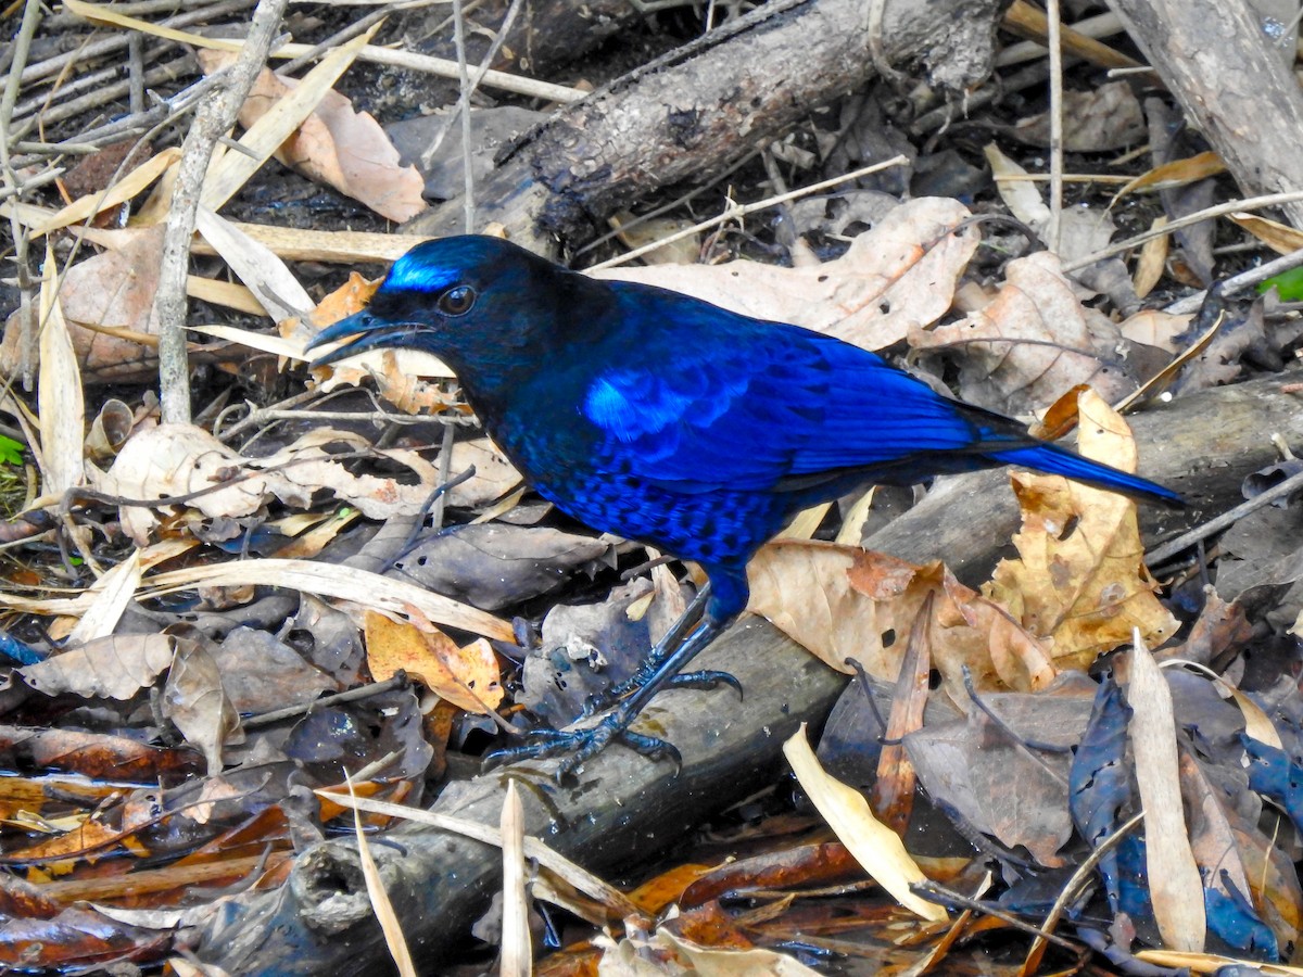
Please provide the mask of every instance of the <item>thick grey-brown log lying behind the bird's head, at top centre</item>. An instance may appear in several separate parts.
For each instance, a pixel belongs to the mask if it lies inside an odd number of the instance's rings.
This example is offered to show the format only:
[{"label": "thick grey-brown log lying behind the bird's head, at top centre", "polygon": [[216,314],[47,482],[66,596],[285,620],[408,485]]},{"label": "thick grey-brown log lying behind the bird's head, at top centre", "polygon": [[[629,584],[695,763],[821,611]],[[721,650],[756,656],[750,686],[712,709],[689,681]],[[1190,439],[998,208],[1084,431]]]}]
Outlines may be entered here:
[{"label": "thick grey-brown log lying behind the bird's head, at top centre", "polygon": [[[894,65],[921,61],[962,91],[989,73],[1005,0],[898,0],[883,14]],[[709,184],[813,109],[874,74],[863,0],[784,0],[710,31],[556,113],[476,190],[477,228],[547,253],[580,244],[622,207],[674,185]],[[461,233],[464,205],[408,233]]]}]

